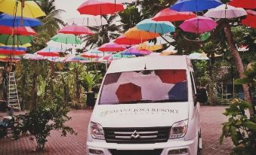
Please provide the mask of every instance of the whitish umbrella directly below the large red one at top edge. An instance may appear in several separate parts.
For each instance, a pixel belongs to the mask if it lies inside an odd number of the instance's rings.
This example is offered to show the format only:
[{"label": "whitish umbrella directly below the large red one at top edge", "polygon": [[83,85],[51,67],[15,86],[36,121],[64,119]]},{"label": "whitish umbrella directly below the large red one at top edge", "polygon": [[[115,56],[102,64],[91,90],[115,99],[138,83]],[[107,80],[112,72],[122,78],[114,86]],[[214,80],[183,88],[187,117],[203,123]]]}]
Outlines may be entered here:
[{"label": "whitish umbrella directly below the large red one at top edge", "polygon": [[102,18],[100,16],[92,16],[92,15],[86,15],[85,17],[80,18],[71,18],[67,20],[69,24],[76,24],[79,26],[104,26],[107,23],[105,18]]}]

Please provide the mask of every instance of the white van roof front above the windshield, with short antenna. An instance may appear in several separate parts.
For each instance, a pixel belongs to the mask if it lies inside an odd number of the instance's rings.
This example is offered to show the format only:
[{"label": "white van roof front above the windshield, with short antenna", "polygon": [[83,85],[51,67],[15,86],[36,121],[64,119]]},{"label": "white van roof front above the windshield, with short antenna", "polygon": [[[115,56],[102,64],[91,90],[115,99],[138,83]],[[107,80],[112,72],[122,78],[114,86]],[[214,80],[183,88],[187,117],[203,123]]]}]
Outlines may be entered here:
[{"label": "white van roof front above the windshield, with short antenna", "polygon": [[186,69],[192,66],[188,56],[141,56],[129,59],[113,60],[107,74],[124,71],[157,69]]}]

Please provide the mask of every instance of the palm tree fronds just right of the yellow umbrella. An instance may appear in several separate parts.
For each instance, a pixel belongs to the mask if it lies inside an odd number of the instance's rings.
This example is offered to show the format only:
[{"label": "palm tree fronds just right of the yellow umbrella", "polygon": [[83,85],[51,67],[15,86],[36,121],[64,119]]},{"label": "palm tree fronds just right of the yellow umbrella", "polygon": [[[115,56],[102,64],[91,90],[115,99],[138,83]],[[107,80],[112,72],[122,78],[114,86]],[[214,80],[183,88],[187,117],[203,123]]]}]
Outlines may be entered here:
[{"label": "palm tree fronds just right of the yellow umbrella", "polygon": [[51,37],[57,34],[57,30],[60,29],[60,26],[65,25],[63,20],[59,17],[63,10],[56,9],[54,2],[55,0],[42,0],[38,2],[42,11],[46,14],[46,17],[42,18],[43,24],[39,26],[39,31],[48,32]]}]

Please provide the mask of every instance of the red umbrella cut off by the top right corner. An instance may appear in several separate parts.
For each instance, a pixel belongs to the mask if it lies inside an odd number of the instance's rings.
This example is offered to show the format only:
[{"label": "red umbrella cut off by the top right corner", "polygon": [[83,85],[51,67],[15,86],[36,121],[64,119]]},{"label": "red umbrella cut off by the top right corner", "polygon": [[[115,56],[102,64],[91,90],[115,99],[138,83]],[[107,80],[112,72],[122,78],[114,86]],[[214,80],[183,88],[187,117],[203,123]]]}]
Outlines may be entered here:
[{"label": "red umbrella cut off by the top right corner", "polygon": [[251,8],[256,9],[255,0],[231,0],[230,4],[236,8]]}]

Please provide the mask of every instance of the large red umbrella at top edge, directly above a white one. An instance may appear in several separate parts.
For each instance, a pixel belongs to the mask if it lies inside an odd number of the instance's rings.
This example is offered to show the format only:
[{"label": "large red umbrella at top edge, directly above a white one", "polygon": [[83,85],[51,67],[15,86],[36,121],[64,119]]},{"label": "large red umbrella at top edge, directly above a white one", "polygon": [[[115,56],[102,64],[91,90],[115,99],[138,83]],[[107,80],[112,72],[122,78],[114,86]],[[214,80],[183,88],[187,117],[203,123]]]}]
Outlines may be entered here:
[{"label": "large red umbrella at top edge, directly above a white one", "polygon": [[88,0],[77,9],[80,14],[91,14],[94,16],[115,14],[123,10],[124,6],[122,4],[115,4],[114,2],[109,2],[109,0]]}]

